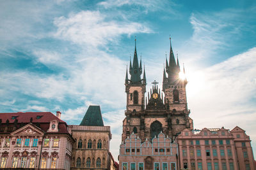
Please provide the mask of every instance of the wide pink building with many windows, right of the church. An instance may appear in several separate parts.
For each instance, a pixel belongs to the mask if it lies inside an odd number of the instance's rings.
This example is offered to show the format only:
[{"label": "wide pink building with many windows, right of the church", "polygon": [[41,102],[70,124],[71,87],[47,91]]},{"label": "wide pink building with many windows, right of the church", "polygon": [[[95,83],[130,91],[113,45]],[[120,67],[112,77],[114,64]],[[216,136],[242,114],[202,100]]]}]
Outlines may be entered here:
[{"label": "wide pink building with many windows, right of the church", "polygon": [[255,169],[250,137],[240,127],[184,129],[177,137],[180,167],[191,170]]}]

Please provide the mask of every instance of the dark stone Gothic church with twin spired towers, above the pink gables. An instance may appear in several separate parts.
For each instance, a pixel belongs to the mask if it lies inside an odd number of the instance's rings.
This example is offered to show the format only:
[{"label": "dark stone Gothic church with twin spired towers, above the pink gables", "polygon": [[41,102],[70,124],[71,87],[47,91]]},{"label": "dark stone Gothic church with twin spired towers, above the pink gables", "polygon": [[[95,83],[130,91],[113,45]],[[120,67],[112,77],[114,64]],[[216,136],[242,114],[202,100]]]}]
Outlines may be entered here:
[{"label": "dark stone Gothic church with twin spired towers, above the pink gables", "polygon": [[[166,70],[165,70],[166,69]],[[158,88],[157,81],[152,83],[152,89],[146,92],[145,68],[141,79],[141,60],[138,62],[136,40],[133,62],[130,59],[129,74],[126,71],[125,92],[127,93],[127,109],[123,121],[122,141],[132,133],[141,139],[151,141],[162,131],[165,136],[174,138],[183,129],[193,129],[193,120],[189,118],[186,100],[186,79],[179,77],[179,60],[175,61],[172,45],[170,46],[169,64],[163,74],[163,92]],[[168,76],[166,76],[166,73]],[[164,97],[163,97],[164,96]]]}]

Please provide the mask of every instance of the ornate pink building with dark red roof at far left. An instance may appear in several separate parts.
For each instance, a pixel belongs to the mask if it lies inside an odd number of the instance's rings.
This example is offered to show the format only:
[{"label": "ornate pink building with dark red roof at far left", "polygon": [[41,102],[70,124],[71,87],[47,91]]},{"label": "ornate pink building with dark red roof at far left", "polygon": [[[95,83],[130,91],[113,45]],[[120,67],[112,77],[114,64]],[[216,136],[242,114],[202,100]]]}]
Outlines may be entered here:
[{"label": "ornate pink building with dark red roof at far left", "polygon": [[0,113],[0,168],[70,169],[74,139],[60,115]]}]

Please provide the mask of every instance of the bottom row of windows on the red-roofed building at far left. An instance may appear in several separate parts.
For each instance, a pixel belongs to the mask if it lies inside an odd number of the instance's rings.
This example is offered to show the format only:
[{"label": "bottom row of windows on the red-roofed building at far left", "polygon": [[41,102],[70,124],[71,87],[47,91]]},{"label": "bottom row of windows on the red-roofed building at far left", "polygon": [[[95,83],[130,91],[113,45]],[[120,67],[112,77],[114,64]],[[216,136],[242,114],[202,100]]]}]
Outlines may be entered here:
[{"label": "bottom row of windows on the red-roofed building at far left", "polygon": [[[7,157],[2,157],[1,158],[0,168],[5,168],[7,159],[8,159]],[[21,168],[35,168],[36,157],[30,157],[28,165],[27,165],[27,162],[28,162],[28,157],[21,157],[19,167],[21,167]],[[18,164],[19,164],[19,157],[13,157],[12,168],[17,168]],[[56,165],[57,165],[57,158],[52,157],[51,158],[51,168],[55,169]],[[42,157],[40,167],[41,168],[46,168],[47,167],[47,158]]]}]

